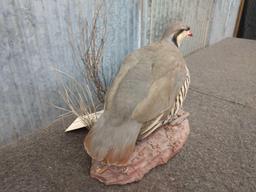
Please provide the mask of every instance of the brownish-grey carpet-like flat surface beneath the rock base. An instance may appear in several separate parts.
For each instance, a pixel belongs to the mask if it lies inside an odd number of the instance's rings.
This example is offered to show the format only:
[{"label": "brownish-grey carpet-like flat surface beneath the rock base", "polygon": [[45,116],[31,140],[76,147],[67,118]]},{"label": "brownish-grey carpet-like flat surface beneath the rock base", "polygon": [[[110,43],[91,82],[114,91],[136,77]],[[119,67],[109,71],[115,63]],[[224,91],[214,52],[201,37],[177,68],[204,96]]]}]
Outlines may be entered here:
[{"label": "brownish-grey carpet-like flat surface beneath the rock base", "polygon": [[0,191],[256,191],[256,41],[226,39],[187,57],[192,84],[183,150],[138,183],[89,177],[85,130],[71,119],[0,149]]}]

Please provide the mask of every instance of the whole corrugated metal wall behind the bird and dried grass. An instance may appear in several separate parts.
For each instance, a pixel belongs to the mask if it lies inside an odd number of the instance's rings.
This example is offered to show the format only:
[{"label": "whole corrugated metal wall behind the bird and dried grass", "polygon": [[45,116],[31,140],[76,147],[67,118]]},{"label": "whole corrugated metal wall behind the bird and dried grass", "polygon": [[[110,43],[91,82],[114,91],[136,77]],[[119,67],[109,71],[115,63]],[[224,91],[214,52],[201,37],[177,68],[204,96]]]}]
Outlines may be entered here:
[{"label": "whole corrugated metal wall behind the bird and dried grass", "polygon": [[[92,16],[94,0],[0,1],[0,143],[49,125],[61,112],[53,67],[76,74],[68,22]],[[232,36],[239,0],[106,1],[104,66],[118,70],[132,50],[157,40],[169,20],[184,20],[194,38],[184,54]]]}]

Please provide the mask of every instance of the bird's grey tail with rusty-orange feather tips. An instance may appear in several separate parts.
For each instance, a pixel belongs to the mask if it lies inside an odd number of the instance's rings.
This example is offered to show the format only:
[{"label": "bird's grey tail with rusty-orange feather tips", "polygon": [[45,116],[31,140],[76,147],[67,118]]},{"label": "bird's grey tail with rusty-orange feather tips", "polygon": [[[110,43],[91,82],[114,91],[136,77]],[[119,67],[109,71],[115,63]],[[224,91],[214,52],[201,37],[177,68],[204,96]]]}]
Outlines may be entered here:
[{"label": "bird's grey tail with rusty-orange feather tips", "polygon": [[95,160],[123,165],[134,151],[141,124],[134,120],[113,122],[102,115],[85,137],[84,147]]}]

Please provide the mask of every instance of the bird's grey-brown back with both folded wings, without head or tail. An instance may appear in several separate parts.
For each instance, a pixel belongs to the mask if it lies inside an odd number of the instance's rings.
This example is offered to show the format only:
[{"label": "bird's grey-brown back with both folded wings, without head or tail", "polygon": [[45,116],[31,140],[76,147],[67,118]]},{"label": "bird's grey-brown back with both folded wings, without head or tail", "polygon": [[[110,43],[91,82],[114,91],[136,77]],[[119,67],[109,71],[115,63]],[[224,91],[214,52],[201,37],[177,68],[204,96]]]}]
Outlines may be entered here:
[{"label": "bird's grey-brown back with both folded wings, without head or tail", "polygon": [[107,95],[105,110],[139,123],[173,105],[185,79],[185,61],[169,44],[155,43],[126,57]]}]

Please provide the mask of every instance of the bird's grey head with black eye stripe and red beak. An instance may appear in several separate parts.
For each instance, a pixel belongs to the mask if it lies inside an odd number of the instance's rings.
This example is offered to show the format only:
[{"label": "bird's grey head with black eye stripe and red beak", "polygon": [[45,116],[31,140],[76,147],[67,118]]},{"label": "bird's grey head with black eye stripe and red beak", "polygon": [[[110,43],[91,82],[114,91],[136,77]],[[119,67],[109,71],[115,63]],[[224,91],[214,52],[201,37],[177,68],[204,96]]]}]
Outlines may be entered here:
[{"label": "bird's grey head with black eye stripe and red beak", "polygon": [[179,47],[184,39],[187,37],[192,37],[192,32],[190,31],[190,27],[184,25],[181,22],[175,22],[170,24],[165,30],[162,40],[168,40],[174,43],[177,47]]}]

